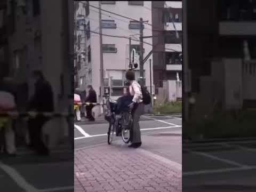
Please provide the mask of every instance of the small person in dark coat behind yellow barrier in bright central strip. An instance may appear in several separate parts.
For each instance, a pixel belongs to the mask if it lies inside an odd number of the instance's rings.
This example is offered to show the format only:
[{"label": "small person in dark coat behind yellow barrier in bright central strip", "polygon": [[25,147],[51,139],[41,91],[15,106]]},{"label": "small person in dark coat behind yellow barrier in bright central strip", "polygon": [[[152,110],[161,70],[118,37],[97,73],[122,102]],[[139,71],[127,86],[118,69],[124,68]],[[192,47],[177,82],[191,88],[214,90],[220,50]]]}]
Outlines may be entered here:
[{"label": "small person in dark coat behind yellow barrier in bright central strip", "polygon": [[[97,102],[97,94],[95,90],[93,89],[92,85],[88,85],[87,88],[89,89],[88,97],[85,99],[85,102],[95,103]],[[92,116],[92,108],[94,107],[93,104],[86,105],[86,118],[89,119],[89,121],[95,121],[95,118]]]}]

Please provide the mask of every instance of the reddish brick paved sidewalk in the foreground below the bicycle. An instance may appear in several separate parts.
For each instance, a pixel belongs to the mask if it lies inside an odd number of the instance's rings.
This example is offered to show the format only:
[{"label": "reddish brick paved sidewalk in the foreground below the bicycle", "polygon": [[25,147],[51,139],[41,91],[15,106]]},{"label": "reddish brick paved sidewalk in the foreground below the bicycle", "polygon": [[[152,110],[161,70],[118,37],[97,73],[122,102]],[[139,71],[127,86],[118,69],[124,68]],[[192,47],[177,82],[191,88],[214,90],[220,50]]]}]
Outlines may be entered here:
[{"label": "reddish brick paved sidewalk in the foreground below the bicycle", "polygon": [[182,191],[181,166],[116,143],[75,150],[75,192]]}]

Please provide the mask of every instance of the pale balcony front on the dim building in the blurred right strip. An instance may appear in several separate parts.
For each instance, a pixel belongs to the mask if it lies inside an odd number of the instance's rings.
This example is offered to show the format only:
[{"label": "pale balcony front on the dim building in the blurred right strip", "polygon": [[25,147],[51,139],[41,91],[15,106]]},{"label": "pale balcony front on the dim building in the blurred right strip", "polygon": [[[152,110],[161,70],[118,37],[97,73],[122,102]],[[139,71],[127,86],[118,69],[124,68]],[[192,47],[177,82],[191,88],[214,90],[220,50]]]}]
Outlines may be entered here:
[{"label": "pale balcony front on the dim building in the blurred right strip", "polygon": [[220,21],[219,35],[256,35],[256,21]]}]

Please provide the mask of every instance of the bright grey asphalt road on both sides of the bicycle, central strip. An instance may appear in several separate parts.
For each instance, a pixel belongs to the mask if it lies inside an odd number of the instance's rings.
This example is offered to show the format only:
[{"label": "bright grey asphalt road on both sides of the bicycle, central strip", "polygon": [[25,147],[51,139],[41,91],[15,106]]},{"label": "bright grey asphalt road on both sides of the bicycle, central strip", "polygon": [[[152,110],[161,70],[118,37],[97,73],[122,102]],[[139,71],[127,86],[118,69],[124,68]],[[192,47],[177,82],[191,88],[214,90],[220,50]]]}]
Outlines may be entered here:
[{"label": "bright grey asphalt road on both sides of the bicycle, central strip", "polygon": [[[140,121],[142,135],[142,149],[148,150],[157,155],[161,155],[174,162],[182,162],[181,157],[181,133],[182,133],[182,118],[181,116],[162,116],[151,117],[142,116]],[[75,148],[86,148],[96,145],[107,144],[108,123],[104,119],[97,119],[91,123],[82,121],[75,124]],[[151,145],[150,140],[147,140],[146,135],[154,135],[161,139],[162,135],[168,137],[177,137],[180,142],[175,142],[173,146]],[[122,140],[121,137],[115,137],[115,140]],[[171,153],[169,152],[171,151]]]}]

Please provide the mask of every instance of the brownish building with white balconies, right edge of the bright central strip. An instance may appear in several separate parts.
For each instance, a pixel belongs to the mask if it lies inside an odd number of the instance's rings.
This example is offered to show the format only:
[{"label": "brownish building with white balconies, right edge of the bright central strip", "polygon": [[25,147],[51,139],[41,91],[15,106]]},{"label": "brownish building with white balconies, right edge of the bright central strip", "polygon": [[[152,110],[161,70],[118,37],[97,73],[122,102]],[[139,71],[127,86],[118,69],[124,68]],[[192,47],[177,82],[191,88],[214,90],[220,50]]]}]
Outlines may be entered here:
[{"label": "brownish building with white balconies, right edge of the bright central strip", "polygon": [[182,79],[182,1],[153,1],[152,25],[157,88],[163,87],[166,80],[176,80],[177,73]]}]

